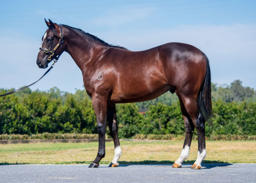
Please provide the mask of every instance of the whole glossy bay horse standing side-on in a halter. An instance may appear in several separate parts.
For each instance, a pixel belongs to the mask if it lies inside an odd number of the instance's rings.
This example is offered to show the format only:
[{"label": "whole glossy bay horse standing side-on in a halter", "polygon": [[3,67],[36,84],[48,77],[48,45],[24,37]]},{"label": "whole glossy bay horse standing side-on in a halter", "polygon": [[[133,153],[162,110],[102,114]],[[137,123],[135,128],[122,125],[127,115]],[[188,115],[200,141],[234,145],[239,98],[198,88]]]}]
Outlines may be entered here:
[{"label": "whole glossy bay horse standing side-on in a halter", "polygon": [[212,115],[209,61],[201,50],[189,44],[167,43],[133,52],[107,44],[81,29],[58,25],[51,20],[45,22],[48,29],[38,53],[38,67],[46,68],[53,58],[58,59],[62,52],[68,52],[80,68],[85,90],[92,98],[99,150],[89,167],[98,167],[105,157],[107,122],[115,147],[110,166],[119,166],[122,151],[117,134],[116,103],[142,102],[170,91],[179,98],[186,129],[183,149],[172,167],[181,167],[188,158],[196,128],[198,157],[191,168],[201,168],[206,157],[205,121]]}]

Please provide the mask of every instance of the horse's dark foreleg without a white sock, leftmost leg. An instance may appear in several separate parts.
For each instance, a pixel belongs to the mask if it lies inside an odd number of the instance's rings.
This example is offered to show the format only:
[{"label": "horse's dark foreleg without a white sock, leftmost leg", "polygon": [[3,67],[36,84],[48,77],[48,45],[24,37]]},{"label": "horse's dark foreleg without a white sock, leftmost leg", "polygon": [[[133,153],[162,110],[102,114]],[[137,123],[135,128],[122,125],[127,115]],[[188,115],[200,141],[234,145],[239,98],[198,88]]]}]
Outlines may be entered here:
[{"label": "horse's dark foreleg without a white sock, leftmost leg", "polygon": [[89,167],[97,168],[100,160],[105,157],[105,133],[106,133],[106,118],[107,118],[107,99],[102,96],[92,97],[93,108],[97,119],[97,129],[99,134],[99,150],[97,157]]}]

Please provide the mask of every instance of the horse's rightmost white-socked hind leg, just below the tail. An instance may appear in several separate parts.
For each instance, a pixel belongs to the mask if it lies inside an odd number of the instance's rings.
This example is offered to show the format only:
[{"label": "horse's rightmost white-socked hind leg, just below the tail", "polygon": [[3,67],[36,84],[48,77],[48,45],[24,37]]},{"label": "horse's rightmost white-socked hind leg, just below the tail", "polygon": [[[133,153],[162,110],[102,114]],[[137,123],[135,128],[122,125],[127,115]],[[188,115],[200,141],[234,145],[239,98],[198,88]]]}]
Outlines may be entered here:
[{"label": "horse's rightmost white-socked hind leg, just below the tail", "polygon": [[205,148],[205,118],[198,105],[197,95],[182,97],[184,106],[198,132],[198,157],[192,169],[200,169],[201,163],[206,158]]}]

